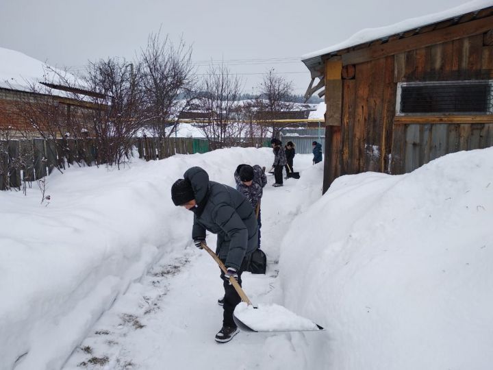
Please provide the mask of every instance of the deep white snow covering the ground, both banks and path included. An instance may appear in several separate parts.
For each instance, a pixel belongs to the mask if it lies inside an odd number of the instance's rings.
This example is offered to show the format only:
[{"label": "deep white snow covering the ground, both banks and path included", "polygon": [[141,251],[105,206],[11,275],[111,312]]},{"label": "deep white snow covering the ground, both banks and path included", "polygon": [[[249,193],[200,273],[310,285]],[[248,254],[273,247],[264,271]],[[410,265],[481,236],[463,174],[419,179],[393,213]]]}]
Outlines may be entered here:
[{"label": "deep white snow covering the ground, both banks and path included", "polygon": [[300,180],[269,177],[268,272],[245,273],[244,289],[327,331],[215,343],[218,267],[193,247],[170,185],[197,165],[232,185],[238,164],[272,157],[232,148],[73,168],[48,177],[48,205],[36,185],[0,193],[0,369],[491,368],[493,149],[343,176],[323,197],[322,164],[296,156]]}]

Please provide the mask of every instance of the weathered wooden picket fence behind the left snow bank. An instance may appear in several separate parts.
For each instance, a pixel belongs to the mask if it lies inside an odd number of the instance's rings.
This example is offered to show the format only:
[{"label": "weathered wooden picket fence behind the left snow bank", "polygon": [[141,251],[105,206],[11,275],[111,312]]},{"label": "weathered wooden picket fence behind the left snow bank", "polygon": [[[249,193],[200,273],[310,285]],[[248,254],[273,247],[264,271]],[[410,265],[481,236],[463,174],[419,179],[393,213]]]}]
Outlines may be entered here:
[{"label": "weathered wooden picket fence behind the left snow bank", "polygon": [[[139,158],[157,160],[174,154],[205,153],[208,142],[194,138],[136,138]],[[71,165],[91,166],[97,158],[94,139],[0,140],[0,190],[20,188],[40,180],[53,169]]]}]

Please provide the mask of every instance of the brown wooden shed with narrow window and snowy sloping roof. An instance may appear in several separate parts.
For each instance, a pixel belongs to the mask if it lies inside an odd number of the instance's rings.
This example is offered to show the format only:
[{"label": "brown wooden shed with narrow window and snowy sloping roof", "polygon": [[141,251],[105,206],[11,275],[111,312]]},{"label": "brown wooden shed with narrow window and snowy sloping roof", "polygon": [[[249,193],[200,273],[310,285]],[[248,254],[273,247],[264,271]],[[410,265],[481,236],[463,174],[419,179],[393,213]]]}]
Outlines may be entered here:
[{"label": "brown wooden shed with narrow window and snowy sloping roof", "polygon": [[341,175],[407,173],[493,146],[493,1],[487,5],[374,29],[364,42],[359,34],[359,42],[305,56],[306,97],[323,88],[327,103],[324,192]]}]

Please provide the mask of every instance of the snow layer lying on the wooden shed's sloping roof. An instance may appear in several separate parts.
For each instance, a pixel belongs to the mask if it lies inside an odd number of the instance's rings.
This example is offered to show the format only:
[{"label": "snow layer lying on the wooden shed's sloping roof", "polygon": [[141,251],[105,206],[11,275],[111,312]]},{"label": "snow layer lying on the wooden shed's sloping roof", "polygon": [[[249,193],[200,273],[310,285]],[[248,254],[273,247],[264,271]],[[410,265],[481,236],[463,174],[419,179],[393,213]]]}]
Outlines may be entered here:
[{"label": "snow layer lying on the wooden shed's sloping roof", "polygon": [[343,42],[340,42],[336,45],[332,45],[331,47],[327,47],[325,49],[314,51],[312,53],[307,53],[304,56],[302,56],[301,59],[305,60],[309,58],[323,56],[325,54],[332,53],[333,51],[346,49],[348,47],[353,47],[355,45],[359,45],[364,42],[370,42],[372,40],[377,40],[379,38],[384,38],[386,36],[399,34],[401,32],[408,31],[409,29],[414,29],[417,27],[422,27],[423,25],[429,25],[431,23],[444,21],[448,18],[453,18],[455,16],[459,16],[469,12],[474,12],[475,10],[488,8],[489,6],[493,6],[493,0],[474,0],[465,3],[463,5],[459,5],[455,8],[444,10],[443,12],[427,14],[425,16],[420,16],[416,18],[410,18],[405,21],[395,23],[394,25],[389,25],[379,28],[362,29],[361,31],[355,33],[353,36],[351,36],[350,38],[348,38]]}]

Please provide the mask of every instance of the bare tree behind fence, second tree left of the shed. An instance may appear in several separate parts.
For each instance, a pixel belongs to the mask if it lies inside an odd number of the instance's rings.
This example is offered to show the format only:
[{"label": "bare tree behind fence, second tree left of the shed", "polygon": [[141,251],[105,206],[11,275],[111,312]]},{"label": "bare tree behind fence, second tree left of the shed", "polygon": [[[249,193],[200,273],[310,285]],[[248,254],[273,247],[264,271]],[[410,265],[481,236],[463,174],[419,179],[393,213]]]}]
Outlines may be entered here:
[{"label": "bare tree behind fence, second tree left of the shed", "polygon": [[210,64],[198,93],[198,105],[207,114],[201,130],[209,139],[210,147],[217,149],[238,145],[240,107],[238,98],[242,93],[242,80],[232,75],[225,64]]}]

